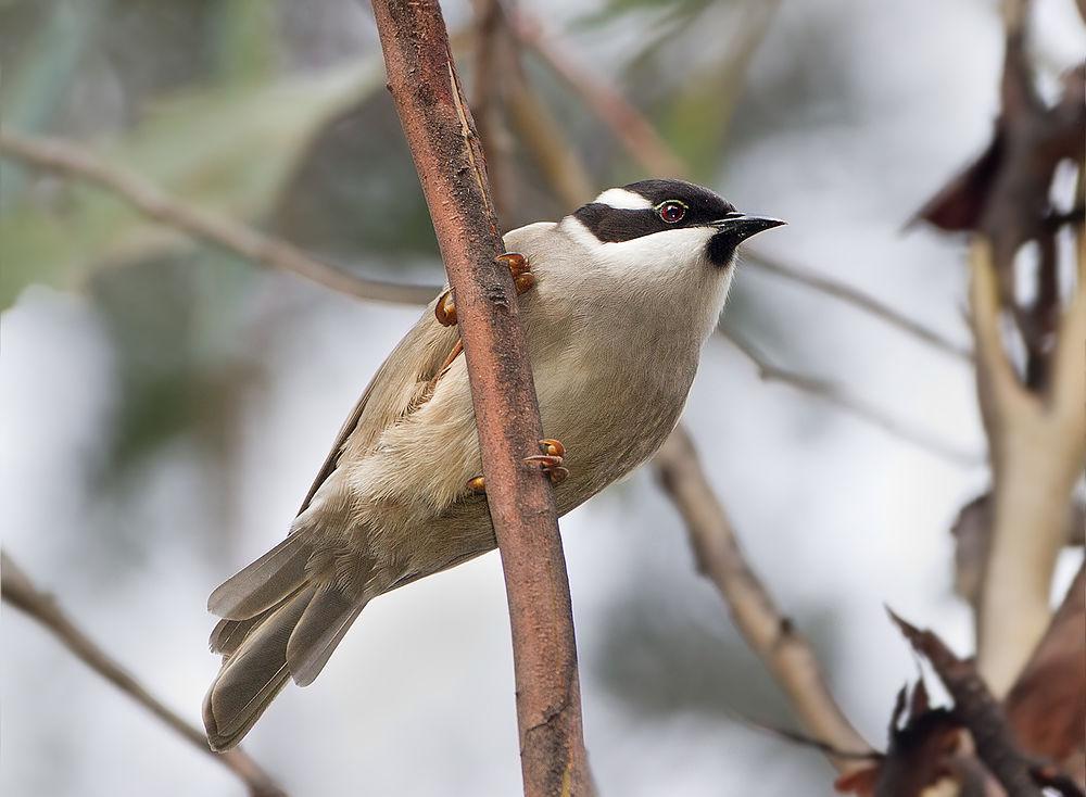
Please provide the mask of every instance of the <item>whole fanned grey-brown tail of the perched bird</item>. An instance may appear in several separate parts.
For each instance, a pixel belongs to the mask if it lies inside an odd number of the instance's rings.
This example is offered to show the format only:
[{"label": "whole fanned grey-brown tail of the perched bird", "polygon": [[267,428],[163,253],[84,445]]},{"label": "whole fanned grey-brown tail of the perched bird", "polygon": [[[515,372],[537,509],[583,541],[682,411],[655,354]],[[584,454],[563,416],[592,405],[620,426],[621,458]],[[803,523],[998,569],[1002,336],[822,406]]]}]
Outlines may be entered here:
[{"label": "whole fanned grey-brown tail of the perched bird", "polygon": [[312,554],[310,535],[295,532],[207,600],[224,618],[211,635],[223,667],[203,707],[212,749],[237,745],[288,678],[300,686],[313,683],[365,607],[365,598],[313,580],[305,567]]}]

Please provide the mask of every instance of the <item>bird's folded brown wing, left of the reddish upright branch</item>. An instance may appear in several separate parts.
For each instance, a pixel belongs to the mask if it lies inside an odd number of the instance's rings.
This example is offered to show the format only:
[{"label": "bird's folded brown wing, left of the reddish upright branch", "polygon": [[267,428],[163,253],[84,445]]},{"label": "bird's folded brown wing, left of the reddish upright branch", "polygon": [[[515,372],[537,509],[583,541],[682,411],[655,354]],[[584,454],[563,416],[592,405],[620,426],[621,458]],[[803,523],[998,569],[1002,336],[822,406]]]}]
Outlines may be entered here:
[{"label": "bird's folded brown wing, left of the reddish upright branch", "polygon": [[434,318],[435,303],[437,300],[427,305],[418,324],[396,344],[366,385],[340,429],[299,514],[305,511],[317,490],[336,470],[348,443],[356,452],[372,448],[381,432],[421,406],[432,393],[433,382],[458,342],[456,328],[443,327]]}]

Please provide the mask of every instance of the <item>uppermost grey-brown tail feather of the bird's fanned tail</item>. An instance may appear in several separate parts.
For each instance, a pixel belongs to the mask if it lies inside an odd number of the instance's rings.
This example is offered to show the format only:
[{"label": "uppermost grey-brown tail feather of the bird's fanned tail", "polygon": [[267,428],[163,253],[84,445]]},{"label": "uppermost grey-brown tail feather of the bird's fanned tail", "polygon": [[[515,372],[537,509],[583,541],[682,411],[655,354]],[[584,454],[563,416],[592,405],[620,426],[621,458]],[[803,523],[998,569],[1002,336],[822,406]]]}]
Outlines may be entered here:
[{"label": "uppermost grey-brown tail feather of the bird's fanned tail", "polygon": [[266,611],[305,583],[312,554],[307,531],[294,532],[227,579],[207,598],[207,610],[227,620],[249,620]]}]

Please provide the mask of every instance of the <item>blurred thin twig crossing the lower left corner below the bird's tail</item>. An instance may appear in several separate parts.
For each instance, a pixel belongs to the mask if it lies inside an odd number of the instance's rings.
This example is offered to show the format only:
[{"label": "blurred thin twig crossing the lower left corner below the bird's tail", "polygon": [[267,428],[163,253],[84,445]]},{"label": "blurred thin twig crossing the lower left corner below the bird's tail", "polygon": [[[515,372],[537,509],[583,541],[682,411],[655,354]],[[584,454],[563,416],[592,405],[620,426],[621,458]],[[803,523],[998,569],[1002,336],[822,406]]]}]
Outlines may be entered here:
[{"label": "blurred thin twig crossing the lower left corner below the bird's tail", "polygon": [[213,752],[203,732],[190,725],[148,692],[124,667],[84,633],[48,593],[38,590],[5,551],[0,551],[0,592],[7,604],[23,611],[53,634],[75,657],[143,706],[197,749],[237,775],[253,797],[286,797],[282,788],[240,748]]}]

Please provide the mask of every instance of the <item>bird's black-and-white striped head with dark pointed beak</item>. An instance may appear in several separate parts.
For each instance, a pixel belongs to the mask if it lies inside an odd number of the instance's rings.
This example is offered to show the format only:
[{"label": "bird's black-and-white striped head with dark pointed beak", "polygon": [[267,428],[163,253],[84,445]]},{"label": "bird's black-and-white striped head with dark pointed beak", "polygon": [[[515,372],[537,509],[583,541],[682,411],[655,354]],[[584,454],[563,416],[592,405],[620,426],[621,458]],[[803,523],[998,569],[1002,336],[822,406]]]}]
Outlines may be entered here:
[{"label": "bird's black-and-white striped head with dark pointed beak", "polygon": [[782,224],[741,213],[692,182],[642,180],[604,191],[563,227],[602,258],[632,268],[727,269],[742,241]]}]

